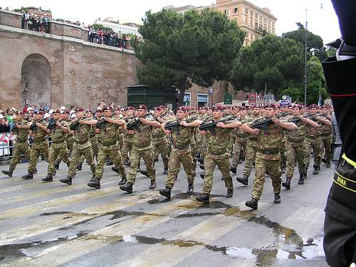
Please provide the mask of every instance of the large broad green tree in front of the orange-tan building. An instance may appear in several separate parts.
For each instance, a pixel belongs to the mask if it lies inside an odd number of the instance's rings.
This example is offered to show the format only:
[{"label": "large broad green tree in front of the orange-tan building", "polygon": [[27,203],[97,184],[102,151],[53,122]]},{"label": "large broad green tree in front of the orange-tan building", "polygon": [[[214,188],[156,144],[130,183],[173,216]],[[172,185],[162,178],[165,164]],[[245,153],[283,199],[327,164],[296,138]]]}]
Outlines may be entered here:
[{"label": "large broad green tree in front of the orange-tan building", "polygon": [[192,83],[208,87],[228,78],[245,38],[236,22],[210,9],[147,11],[139,32],[143,42],[132,42],[143,63],[137,78],[154,88],[179,88],[181,104]]}]

